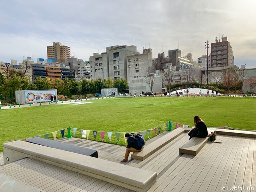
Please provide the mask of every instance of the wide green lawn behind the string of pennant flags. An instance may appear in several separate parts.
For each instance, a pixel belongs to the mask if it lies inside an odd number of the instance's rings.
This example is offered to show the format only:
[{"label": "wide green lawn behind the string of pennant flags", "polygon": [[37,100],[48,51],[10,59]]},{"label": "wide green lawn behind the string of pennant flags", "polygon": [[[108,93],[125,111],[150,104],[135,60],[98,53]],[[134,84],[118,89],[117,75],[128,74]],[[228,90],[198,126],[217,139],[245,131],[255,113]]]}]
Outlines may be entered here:
[{"label": "wide green lawn behind the string of pennant flags", "polygon": [[[193,125],[195,115],[199,115],[207,126],[256,130],[256,98],[143,97],[94,101],[82,105],[0,110],[0,142],[46,134],[68,126],[85,130],[136,132],[154,128],[168,120]],[[122,141],[118,143],[114,134],[112,137],[111,142],[124,144]],[[92,133],[90,138],[93,138]],[[108,138],[107,135],[105,138]],[[99,133],[97,140],[101,140]]]}]

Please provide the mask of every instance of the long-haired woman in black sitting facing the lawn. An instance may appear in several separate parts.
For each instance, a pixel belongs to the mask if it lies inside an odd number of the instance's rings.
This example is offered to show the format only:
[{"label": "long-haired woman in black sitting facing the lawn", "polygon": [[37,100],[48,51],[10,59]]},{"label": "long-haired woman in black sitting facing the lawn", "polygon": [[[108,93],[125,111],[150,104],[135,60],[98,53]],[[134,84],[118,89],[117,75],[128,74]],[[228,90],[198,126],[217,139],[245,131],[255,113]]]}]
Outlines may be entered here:
[{"label": "long-haired woman in black sitting facing the lawn", "polygon": [[192,137],[207,137],[207,126],[199,116],[194,117],[194,124],[196,125],[196,127],[188,133],[188,135],[190,136],[189,139],[191,139]]}]

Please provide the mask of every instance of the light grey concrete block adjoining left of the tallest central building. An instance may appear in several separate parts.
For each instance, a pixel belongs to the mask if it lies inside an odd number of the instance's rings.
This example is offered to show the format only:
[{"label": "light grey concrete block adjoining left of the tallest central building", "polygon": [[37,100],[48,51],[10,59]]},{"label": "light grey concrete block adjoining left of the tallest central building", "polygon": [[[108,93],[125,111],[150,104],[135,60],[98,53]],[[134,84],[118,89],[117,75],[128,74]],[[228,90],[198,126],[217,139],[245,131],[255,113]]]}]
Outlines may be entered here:
[{"label": "light grey concrete block adjoining left of the tallest central building", "polygon": [[[109,77],[108,53],[94,53],[90,56],[90,75],[91,79],[106,79]],[[119,67],[116,67],[116,71]],[[112,70],[113,71],[113,70]]]}]

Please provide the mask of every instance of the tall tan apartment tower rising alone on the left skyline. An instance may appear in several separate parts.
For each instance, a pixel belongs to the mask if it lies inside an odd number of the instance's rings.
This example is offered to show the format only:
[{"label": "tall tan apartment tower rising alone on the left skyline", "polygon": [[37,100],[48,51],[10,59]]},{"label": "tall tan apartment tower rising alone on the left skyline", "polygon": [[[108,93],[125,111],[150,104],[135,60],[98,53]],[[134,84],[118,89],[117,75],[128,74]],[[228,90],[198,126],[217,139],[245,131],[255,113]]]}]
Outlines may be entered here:
[{"label": "tall tan apartment tower rising alone on the left skyline", "polygon": [[53,42],[51,46],[47,46],[47,58],[54,58],[57,63],[68,62],[70,47],[62,45],[60,42]]}]

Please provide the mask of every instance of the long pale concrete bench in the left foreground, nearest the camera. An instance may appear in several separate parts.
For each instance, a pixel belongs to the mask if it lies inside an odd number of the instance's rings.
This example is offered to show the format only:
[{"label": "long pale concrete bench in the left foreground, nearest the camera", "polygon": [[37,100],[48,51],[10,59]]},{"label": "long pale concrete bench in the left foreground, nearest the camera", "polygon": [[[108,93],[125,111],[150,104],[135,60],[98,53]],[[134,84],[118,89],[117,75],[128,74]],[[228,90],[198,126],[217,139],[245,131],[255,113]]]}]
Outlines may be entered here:
[{"label": "long pale concrete bench in the left foreground, nearest the camera", "polygon": [[3,148],[4,164],[29,157],[136,192],[146,192],[156,182],[157,174],[152,171],[29,142],[9,142]]}]

